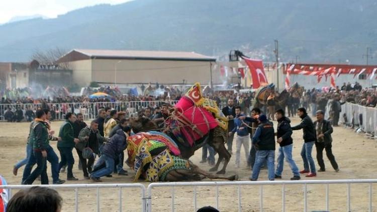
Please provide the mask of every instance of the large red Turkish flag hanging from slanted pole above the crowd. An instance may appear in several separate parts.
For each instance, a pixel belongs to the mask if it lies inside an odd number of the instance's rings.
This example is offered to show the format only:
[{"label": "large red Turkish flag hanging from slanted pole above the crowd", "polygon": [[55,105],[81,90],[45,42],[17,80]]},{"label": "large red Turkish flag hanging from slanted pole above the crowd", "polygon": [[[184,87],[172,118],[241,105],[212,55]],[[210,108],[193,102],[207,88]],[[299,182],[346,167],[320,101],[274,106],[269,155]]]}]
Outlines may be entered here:
[{"label": "large red Turkish flag hanging from slanted pole above the crowd", "polygon": [[268,84],[262,60],[254,60],[245,57],[242,57],[242,59],[244,59],[247,66],[249,66],[254,89],[260,87],[262,84]]}]

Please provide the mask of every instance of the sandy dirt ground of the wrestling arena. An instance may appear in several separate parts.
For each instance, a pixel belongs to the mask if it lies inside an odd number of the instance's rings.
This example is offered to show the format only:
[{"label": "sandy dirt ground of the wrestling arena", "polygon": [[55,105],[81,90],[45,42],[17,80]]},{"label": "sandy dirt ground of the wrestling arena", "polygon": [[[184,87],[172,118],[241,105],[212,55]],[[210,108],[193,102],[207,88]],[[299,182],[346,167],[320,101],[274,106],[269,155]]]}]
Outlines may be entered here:
[{"label": "sandy dirt ground of the wrestling arena", "polygon": [[[299,119],[292,119],[293,125],[299,123]],[[59,130],[61,122],[53,122],[52,129]],[[276,127],[276,123],[274,123]],[[13,165],[23,157],[25,157],[26,138],[28,136],[29,123],[0,123],[0,175],[3,175],[9,184],[20,184],[23,168],[19,170],[17,176],[13,176]],[[363,135],[357,135],[350,129],[343,127],[334,128],[333,133],[333,153],[339,164],[340,172],[336,173],[325,154],[326,172],[318,173],[313,180],[319,179],[370,179],[377,177],[377,141],[365,138]],[[300,156],[302,141],[302,131],[295,131],[293,157],[300,169],[303,168],[303,162]],[[51,142],[56,149],[56,143]],[[235,152],[235,141],[233,145],[233,153]],[[276,146],[277,147],[277,146]],[[243,148],[242,148],[243,149]],[[315,158],[316,150],[313,150]],[[74,152],[76,163],[77,155]],[[198,150],[191,160],[199,164],[202,152]],[[276,151],[277,156],[277,151]],[[207,164],[199,164],[205,170],[211,167]],[[318,164],[316,162],[317,169]],[[285,163],[282,180],[289,180],[292,177],[291,170]],[[74,166],[74,175],[79,178],[78,181],[68,183],[92,183],[92,181],[84,180],[82,172]],[[132,173],[132,170],[128,169]],[[50,165],[48,165],[48,174],[50,174]],[[241,168],[235,168],[235,156],[227,168],[227,174],[239,174],[240,180],[248,180],[251,171],[246,167],[245,154],[241,150]],[[65,174],[60,175],[61,179],[65,179]],[[49,178],[52,181],[51,177]],[[259,180],[267,179],[267,171],[262,170]],[[305,176],[302,176],[305,179]],[[130,183],[133,181],[133,174],[130,176],[117,176],[113,178],[104,178],[103,183]],[[36,181],[35,184],[38,184]],[[148,183],[143,182],[147,187]],[[281,186],[263,186],[264,191],[264,211],[281,211]],[[193,211],[194,188],[176,187],[174,205],[175,211]],[[347,187],[346,185],[330,185],[330,211],[346,211],[347,208]],[[62,211],[74,211],[74,190],[59,189],[59,193],[63,196]],[[220,211],[237,211],[237,188],[235,186],[224,186],[219,188],[219,209]],[[16,191],[12,191],[15,193]],[[197,188],[198,192],[198,208],[206,205],[215,205],[216,189],[215,187],[203,186]],[[351,210],[367,211],[369,199],[368,185],[353,184],[351,185]],[[101,193],[101,211],[119,211],[119,190],[100,189]],[[302,211],[304,208],[303,186],[287,185],[286,186],[286,211]],[[241,188],[242,211],[259,211],[259,186],[242,186]],[[324,185],[308,185],[308,210],[324,210],[325,207],[325,186]],[[79,189],[79,211],[95,211],[96,210],[96,189]],[[141,210],[140,190],[136,188],[122,189],[122,210],[123,211],[140,211]],[[377,186],[373,186],[373,211],[377,211]],[[152,197],[153,211],[171,210],[171,188],[154,188]]]}]

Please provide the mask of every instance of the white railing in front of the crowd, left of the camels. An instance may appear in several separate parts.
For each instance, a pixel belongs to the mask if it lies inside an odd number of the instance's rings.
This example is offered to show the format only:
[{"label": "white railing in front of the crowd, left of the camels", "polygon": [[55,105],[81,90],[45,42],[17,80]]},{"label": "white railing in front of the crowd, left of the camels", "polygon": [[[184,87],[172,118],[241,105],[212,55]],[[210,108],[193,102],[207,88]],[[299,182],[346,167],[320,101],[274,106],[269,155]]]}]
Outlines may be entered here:
[{"label": "white railing in front of the crowd, left of the camels", "polygon": [[[48,107],[51,111],[53,120],[63,120],[66,113],[81,113],[84,120],[95,119],[98,116],[98,111],[100,108],[110,107],[117,111],[126,112],[126,118],[137,117],[138,112],[144,108],[156,108],[160,107],[162,104],[172,104],[174,105],[177,101],[115,101],[115,102],[74,102],[74,103],[47,103],[45,105],[38,103],[14,103],[14,104],[0,104],[0,121],[6,121],[6,113],[10,108],[14,113],[15,121],[31,121],[28,115],[35,113],[38,108],[43,109]],[[22,111],[21,120],[17,120],[16,110],[20,109]]]}]

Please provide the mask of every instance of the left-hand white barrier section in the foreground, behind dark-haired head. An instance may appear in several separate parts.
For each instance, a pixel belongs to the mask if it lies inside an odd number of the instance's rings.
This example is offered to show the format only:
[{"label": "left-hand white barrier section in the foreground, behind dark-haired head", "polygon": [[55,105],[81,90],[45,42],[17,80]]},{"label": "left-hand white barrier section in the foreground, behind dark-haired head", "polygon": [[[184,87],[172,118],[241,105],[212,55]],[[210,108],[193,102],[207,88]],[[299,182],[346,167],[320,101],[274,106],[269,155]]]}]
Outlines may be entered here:
[{"label": "left-hand white barrier section in the foreground, behind dark-haired head", "polygon": [[[35,186],[35,185],[34,185]],[[74,211],[78,211],[78,189],[83,189],[83,188],[96,188],[96,208],[97,212],[100,211],[100,199],[101,199],[101,194],[100,194],[100,188],[118,188],[118,210],[117,211],[122,211],[122,188],[140,188],[140,194],[141,194],[141,211],[146,211],[146,198],[145,198],[145,186],[140,183],[122,183],[122,184],[66,184],[66,185],[38,185],[38,186],[43,186],[43,187],[49,187],[49,188],[54,188],[59,191],[59,189],[63,188],[72,188],[74,189]],[[10,197],[12,197],[12,189],[26,189],[33,187],[33,185],[0,185],[0,188],[8,189]],[[64,199],[63,199],[64,200]]]}]

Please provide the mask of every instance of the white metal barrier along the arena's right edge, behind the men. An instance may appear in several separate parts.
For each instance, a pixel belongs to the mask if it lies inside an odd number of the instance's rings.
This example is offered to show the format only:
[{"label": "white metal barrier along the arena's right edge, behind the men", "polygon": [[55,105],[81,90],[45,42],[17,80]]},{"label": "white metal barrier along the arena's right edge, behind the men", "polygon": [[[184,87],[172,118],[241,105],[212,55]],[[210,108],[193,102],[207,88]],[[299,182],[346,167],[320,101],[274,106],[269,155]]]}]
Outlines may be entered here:
[{"label": "white metal barrier along the arena's right edge, behind the men", "polygon": [[[343,117],[345,115],[345,117]],[[363,132],[376,136],[377,109],[359,104],[345,103],[342,105],[341,120],[347,125],[356,125]]]}]

